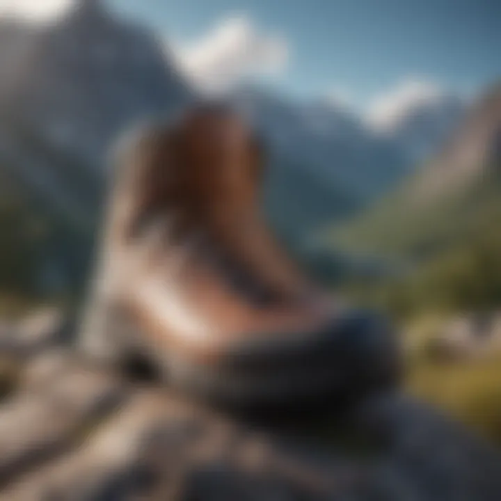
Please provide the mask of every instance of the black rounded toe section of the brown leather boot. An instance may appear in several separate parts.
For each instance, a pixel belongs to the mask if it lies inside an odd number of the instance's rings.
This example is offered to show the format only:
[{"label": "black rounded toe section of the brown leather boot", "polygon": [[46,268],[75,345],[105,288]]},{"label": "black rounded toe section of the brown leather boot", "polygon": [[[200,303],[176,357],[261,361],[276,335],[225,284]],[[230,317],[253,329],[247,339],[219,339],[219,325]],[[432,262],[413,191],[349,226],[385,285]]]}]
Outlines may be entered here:
[{"label": "black rounded toe section of the brown leather boot", "polygon": [[386,321],[353,311],[314,333],[233,347],[218,367],[218,380],[231,398],[266,406],[357,399],[392,388],[399,372],[397,340]]}]

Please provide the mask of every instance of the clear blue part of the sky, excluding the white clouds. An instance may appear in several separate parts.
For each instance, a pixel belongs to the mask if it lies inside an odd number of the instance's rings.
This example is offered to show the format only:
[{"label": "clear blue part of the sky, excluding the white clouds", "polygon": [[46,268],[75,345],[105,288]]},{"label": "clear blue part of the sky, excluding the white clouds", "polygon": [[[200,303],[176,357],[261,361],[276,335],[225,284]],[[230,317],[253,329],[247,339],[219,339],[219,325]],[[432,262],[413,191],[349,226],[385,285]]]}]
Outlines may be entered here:
[{"label": "clear blue part of the sky, excluding the white clouds", "polygon": [[501,77],[500,0],[111,0],[175,43],[245,16],[279,35],[273,82],[297,95],[339,93],[359,105],[404,79],[472,93]]}]

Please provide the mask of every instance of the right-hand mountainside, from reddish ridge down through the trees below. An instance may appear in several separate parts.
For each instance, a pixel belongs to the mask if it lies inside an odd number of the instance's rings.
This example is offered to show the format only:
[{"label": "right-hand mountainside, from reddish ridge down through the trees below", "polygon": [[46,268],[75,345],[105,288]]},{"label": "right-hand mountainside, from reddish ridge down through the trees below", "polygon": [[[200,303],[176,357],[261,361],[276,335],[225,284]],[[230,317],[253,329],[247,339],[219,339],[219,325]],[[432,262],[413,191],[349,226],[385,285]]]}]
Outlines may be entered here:
[{"label": "right-hand mountainside, from reddish ridge down through the trees below", "polygon": [[[501,86],[474,106],[445,148],[406,183],[320,236],[351,270],[337,284],[401,319],[463,315],[501,304]],[[346,267],[342,267],[346,269]],[[422,317],[424,315],[424,317]]]}]

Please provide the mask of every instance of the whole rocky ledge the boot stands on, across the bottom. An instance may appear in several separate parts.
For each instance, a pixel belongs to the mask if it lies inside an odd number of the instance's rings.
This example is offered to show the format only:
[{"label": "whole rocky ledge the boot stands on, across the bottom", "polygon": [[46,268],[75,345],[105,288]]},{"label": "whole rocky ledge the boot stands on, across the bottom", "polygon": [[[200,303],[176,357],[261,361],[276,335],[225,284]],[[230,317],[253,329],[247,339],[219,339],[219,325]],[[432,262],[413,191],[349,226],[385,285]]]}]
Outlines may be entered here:
[{"label": "whole rocky ledge the boot stands on, across the bottom", "polygon": [[0,501],[501,499],[498,452],[407,397],[367,401],[345,436],[250,424],[95,367],[63,331],[0,326]]}]

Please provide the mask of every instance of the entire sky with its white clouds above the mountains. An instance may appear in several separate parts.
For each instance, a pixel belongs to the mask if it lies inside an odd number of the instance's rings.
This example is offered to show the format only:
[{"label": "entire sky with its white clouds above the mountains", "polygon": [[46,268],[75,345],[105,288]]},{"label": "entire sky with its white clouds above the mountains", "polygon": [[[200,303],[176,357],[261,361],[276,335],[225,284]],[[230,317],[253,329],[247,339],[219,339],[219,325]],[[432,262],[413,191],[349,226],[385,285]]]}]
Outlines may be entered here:
[{"label": "entire sky with its white clouds above the mountains", "polygon": [[[28,17],[79,0],[0,0]],[[501,0],[103,0],[151,26],[202,88],[260,78],[385,113],[501,77]]]}]

